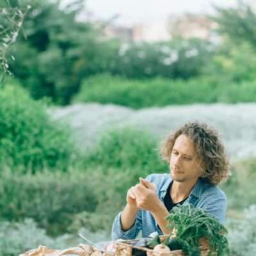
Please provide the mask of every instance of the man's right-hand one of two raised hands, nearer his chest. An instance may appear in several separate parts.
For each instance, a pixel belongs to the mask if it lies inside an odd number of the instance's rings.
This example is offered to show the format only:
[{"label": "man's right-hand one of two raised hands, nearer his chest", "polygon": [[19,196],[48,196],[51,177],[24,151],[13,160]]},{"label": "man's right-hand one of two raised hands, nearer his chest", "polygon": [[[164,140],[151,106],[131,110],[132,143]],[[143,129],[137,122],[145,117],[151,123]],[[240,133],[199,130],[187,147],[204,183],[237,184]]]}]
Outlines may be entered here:
[{"label": "man's right-hand one of two raised hands, nearer his chest", "polygon": [[142,178],[140,178],[140,183],[132,189],[132,193],[136,198],[137,207],[145,211],[156,211],[159,204],[161,204],[161,200],[156,193],[154,184]]}]

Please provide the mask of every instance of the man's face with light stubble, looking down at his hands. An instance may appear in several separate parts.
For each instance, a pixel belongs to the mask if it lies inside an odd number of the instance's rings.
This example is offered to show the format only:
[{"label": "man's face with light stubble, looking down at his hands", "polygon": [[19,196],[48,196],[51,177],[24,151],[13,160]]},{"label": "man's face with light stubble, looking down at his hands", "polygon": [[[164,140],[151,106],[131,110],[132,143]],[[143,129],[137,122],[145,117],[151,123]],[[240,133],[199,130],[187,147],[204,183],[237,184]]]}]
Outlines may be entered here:
[{"label": "man's face with light stubble, looking down at his hands", "polygon": [[181,134],[175,140],[170,157],[172,179],[177,182],[196,183],[198,177],[200,177],[199,164],[193,141],[186,135]]}]

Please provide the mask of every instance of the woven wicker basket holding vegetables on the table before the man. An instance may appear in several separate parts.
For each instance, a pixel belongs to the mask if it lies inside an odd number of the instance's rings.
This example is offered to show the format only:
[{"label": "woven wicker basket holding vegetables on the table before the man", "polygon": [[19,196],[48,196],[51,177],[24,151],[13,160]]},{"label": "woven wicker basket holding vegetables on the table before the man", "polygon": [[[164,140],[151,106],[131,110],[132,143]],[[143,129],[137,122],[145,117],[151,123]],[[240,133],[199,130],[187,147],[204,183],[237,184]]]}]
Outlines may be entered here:
[{"label": "woven wicker basket holding vegetables on the table before the man", "polygon": [[[160,236],[160,240],[164,241],[166,236]],[[115,256],[132,256],[132,248],[147,252],[147,256],[186,256],[182,250],[170,251],[168,253],[156,253],[152,249],[145,247],[132,246],[131,243],[140,239],[127,240],[115,243]],[[206,256],[209,253],[209,248],[205,245],[199,247],[201,250],[201,256]]]}]

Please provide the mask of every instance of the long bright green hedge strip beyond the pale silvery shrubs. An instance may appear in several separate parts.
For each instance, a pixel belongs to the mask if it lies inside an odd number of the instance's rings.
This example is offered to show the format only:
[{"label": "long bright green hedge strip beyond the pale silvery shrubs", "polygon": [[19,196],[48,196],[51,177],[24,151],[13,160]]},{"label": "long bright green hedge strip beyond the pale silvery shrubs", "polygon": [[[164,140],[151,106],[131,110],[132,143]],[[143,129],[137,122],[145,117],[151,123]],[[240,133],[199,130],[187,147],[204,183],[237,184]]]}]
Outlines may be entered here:
[{"label": "long bright green hedge strip beyond the pale silvery shrubs", "polygon": [[254,102],[255,93],[255,81],[231,83],[212,76],[188,81],[161,77],[134,80],[101,74],[86,79],[74,101],[113,103],[138,109],[196,102]]}]

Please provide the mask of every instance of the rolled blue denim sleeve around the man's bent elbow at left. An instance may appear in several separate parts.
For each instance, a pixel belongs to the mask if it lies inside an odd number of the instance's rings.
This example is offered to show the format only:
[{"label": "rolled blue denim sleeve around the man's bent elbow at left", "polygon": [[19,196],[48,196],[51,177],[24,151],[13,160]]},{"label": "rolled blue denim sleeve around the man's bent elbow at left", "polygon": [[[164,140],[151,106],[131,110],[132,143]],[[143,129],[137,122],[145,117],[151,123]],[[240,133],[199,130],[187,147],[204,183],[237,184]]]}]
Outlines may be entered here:
[{"label": "rolled blue denim sleeve around the man's bent elbow at left", "polygon": [[141,211],[138,212],[134,225],[127,231],[122,230],[121,227],[122,212],[116,216],[112,226],[112,239],[134,239],[141,230]]}]

